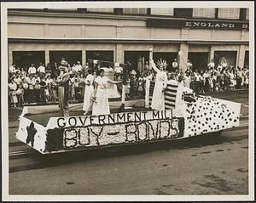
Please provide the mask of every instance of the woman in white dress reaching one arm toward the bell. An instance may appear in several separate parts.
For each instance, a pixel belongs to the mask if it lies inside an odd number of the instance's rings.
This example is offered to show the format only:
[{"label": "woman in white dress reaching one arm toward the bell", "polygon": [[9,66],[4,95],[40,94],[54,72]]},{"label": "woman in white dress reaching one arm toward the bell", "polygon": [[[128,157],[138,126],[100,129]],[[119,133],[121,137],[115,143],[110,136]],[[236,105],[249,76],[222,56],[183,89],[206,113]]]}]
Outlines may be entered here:
[{"label": "woman in white dress reaching one arm toward the bell", "polygon": [[[109,103],[108,103],[108,93],[107,93],[107,85],[108,82],[112,84],[121,83],[120,82],[113,82],[108,79],[108,77],[104,76],[104,70],[99,69],[97,70],[97,77],[95,79],[95,89],[92,93],[91,98],[93,99],[92,105],[92,115],[108,115],[110,114],[109,110]],[[84,113],[85,115],[88,114],[88,110]]]}]

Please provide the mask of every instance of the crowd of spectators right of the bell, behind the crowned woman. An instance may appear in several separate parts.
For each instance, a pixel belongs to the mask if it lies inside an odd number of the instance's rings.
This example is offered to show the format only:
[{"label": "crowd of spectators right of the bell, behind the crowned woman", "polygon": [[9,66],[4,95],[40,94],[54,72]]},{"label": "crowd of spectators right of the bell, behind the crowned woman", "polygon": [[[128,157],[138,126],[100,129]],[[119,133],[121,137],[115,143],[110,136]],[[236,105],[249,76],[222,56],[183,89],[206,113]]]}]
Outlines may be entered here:
[{"label": "crowd of spectators right of the bell, behind the crowned woman", "polygon": [[[187,70],[185,71],[178,68],[177,59],[174,59],[172,65],[170,65],[171,67],[168,67],[164,60],[159,62],[157,66],[159,65],[163,65],[168,80],[176,80],[184,87],[193,89],[195,93],[223,92],[249,87],[248,66],[243,68],[229,66],[226,60],[223,62],[220,61],[216,66],[212,59],[207,67],[203,69],[197,69],[188,60]],[[144,95],[147,77],[153,78],[151,80],[154,80],[154,76],[155,72],[149,66],[146,66],[141,73],[131,70],[129,74],[130,85],[128,86],[130,87],[129,95],[131,97],[138,94]]]}]

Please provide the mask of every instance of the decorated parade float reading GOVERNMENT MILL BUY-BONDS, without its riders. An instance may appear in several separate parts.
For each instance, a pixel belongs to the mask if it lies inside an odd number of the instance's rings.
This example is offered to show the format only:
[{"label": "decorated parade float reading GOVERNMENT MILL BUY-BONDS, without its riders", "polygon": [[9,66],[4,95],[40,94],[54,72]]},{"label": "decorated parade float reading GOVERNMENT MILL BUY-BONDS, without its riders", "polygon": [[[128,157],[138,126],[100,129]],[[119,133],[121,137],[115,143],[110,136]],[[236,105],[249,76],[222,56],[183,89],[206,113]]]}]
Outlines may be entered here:
[{"label": "decorated parade float reading GOVERNMENT MILL BUY-BONDS, without its riders", "polygon": [[241,104],[196,95],[171,81],[165,91],[166,109],[151,110],[153,89],[151,81],[149,97],[131,102],[129,109],[122,95],[123,108],[111,107],[109,115],[82,116],[81,104],[70,107],[70,116],[58,116],[57,106],[25,106],[16,138],[49,154],[207,136],[239,126]]}]

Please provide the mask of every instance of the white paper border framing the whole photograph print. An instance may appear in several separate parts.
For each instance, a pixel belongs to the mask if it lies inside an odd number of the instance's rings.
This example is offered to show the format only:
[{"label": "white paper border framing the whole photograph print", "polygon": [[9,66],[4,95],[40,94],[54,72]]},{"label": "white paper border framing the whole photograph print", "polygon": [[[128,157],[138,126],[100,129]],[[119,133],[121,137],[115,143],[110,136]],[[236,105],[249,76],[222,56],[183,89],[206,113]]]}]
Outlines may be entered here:
[{"label": "white paper border framing the whole photograph print", "polygon": [[[250,8],[250,84],[249,84],[249,195],[9,195],[9,136],[8,136],[8,109],[5,105],[8,104],[7,84],[8,84],[8,42],[7,42],[7,8]],[[16,200],[253,200],[254,199],[254,2],[15,2],[15,3],[1,3],[1,54],[2,54],[2,69],[1,69],[1,104],[2,104],[2,196],[4,201]]]}]

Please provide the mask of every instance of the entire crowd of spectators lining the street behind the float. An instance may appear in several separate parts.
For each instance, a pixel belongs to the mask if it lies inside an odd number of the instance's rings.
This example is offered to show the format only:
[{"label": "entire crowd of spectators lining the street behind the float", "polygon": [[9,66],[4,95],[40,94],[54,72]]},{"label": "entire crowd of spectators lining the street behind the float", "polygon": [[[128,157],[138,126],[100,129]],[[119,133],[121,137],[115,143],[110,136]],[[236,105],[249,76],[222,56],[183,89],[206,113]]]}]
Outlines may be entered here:
[{"label": "entire crowd of spectators lining the street behind the float", "polygon": [[[158,65],[164,66],[168,80],[177,80],[183,86],[192,88],[195,93],[230,91],[248,88],[249,84],[248,67],[232,67],[227,65],[225,60],[217,66],[211,60],[202,70],[188,61],[187,70],[183,71],[178,68],[177,59],[169,66],[164,60]],[[88,64],[82,67],[78,61],[72,66],[68,65],[68,70],[70,73],[69,100],[71,103],[82,102]],[[120,67],[113,67],[116,81],[123,80],[122,71]],[[52,66],[39,63],[37,67],[32,64],[27,70],[16,67],[15,64],[11,65],[9,67],[9,106],[56,103],[58,95],[55,80],[58,75],[57,63]],[[154,76],[155,72],[150,69],[148,62],[140,70],[130,65],[126,78],[126,98],[143,97],[147,78],[154,80]],[[118,85],[118,90],[121,93],[122,84]]]}]

